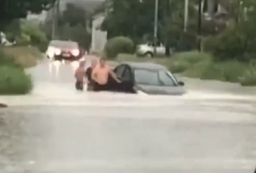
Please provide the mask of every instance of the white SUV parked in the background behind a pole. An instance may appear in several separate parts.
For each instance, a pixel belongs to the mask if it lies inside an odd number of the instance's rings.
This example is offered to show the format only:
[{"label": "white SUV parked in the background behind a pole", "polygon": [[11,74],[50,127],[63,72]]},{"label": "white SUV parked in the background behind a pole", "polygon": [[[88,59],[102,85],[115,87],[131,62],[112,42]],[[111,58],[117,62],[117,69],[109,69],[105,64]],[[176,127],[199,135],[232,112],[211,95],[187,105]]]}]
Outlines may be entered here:
[{"label": "white SUV parked in the background behind a pole", "polygon": [[[171,52],[171,49],[170,49]],[[146,43],[146,44],[139,44],[136,50],[137,56],[154,56],[154,44],[153,43]],[[158,43],[156,46],[156,56],[165,56],[165,46],[161,43]]]}]

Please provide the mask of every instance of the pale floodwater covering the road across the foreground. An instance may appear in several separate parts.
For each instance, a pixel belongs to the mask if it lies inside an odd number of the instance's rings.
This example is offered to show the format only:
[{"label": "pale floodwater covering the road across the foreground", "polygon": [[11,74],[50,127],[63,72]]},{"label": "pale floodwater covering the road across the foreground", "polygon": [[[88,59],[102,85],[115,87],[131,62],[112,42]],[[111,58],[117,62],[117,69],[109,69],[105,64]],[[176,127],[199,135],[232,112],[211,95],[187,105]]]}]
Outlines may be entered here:
[{"label": "pale floodwater covering the road across the foreground", "polygon": [[0,97],[0,173],[254,171],[255,96],[80,93],[76,65],[44,61],[31,95]]}]

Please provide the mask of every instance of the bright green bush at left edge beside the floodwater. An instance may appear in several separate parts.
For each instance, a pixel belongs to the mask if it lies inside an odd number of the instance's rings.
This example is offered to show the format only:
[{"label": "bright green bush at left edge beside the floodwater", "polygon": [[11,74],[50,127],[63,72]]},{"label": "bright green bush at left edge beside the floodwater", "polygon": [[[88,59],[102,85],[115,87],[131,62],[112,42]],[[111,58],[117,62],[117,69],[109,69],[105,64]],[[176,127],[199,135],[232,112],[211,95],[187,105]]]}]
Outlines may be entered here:
[{"label": "bright green bush at left edge beside the floodwater", "polygon": [[0,95],[27,94],[32,89],[32,81],[22,68],[0,66]]}]

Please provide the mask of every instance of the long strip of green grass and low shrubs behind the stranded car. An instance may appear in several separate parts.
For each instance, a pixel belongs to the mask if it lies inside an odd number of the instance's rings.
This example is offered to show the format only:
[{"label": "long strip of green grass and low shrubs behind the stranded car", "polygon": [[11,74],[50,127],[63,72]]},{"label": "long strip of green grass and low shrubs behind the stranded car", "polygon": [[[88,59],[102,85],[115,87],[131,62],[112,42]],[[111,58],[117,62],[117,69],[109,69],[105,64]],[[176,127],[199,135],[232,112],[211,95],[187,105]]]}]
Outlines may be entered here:
[{"label": "long strip of green grass and low shrubs behind the stranded car", "polygon": [[139,58],[120,54],[117,61],[154,62],[186,77],[256,86],[256,65],[238,61],[214,62],[210,54],[197,51],[176,53],[170,58]]}]

